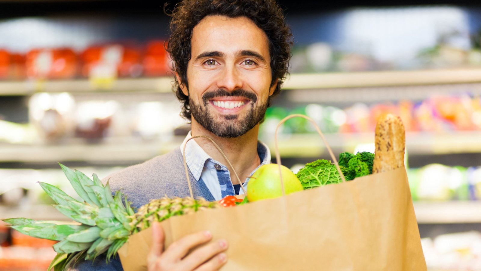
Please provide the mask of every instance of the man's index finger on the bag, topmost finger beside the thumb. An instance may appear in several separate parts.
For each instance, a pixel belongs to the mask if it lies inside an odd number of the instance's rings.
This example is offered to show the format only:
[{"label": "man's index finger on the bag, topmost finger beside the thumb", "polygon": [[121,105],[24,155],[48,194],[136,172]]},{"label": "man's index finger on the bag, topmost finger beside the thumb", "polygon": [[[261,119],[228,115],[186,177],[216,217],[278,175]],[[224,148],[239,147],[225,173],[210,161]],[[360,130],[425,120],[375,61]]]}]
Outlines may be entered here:
[{"label": "man's index finger on the bag, topmost finger beside the thumb", "polygon": [[211,239],[212,234],[210,231],[199,231],[197,233],[189,234],[169,245],[165,250],[163,257],[178,261],[185,257],[191,248],[204,244]]}]

